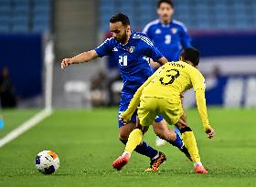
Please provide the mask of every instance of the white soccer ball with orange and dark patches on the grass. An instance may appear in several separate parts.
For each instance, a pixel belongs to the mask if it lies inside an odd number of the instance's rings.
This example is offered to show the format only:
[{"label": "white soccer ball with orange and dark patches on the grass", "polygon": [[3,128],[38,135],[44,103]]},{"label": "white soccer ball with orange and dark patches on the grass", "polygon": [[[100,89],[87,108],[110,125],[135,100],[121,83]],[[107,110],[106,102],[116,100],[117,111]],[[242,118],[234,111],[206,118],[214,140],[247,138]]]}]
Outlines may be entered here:
[{"label": "white soccer ball with orange and dark patches on the grass", "polygon": [[36,157],[36,168],[43,174],[52,174],[59,169],[59,157],[54,151],[40,151]]}]

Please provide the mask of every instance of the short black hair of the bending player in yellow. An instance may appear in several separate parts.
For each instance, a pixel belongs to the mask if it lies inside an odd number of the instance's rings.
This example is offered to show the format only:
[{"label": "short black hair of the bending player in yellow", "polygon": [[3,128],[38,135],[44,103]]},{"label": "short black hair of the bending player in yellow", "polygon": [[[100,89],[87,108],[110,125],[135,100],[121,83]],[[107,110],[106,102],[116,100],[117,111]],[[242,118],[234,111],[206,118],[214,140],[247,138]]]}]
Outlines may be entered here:
[{"label": "short black hair of the bending player in yellow", "polygon": [[200,54],[197,48],[194,48],[194,47],[184,48],[179,56],[183,57],[184,61],[188,60],[192,62],[195,66],[199,64]]}]

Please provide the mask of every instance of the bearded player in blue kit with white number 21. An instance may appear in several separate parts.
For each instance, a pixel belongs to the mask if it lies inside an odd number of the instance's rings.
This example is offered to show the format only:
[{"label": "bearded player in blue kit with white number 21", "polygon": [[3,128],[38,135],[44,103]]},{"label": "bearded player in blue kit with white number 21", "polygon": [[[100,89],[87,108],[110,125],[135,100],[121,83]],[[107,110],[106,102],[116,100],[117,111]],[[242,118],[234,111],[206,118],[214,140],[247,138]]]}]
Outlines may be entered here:
[{"label": "bearded player in blue kit with white number 21", "polygon": [[[97,57],[114,57],[123,78],[123,89],[119,106],[119,115],[121,115],[128,108],[136,90],[152,75],[148,57],[161,65],[164,65],[167,59],[143,33],[131,31],[130,21],[127,16],[123,14],[112,16],[110,30],[112,38],[106,39],[100,47],[94,50],[83,52],[76,57],[63,59],[61,68],[66,68],[72,64],[88,62]],[[166,124],[161,121],[163,121],[162,117],[155,119],[157,123],[153,127],[156,133],[172,145],[180,148],[182,140],[180,140],[179,135],[176,135],[176,140],[173,140]],[[136,113],[133,114],[131,121],[127,125],[123,125],[123,122],[119,119],[119,139],[124,144],[126,144],[131,131],[136,127],[135,123]],[[156,151],[144,141],[136,147],[135,151],[151,159],[151,166],[147,171],[157,171],[159,166],[166,160],[163,152]]]}]

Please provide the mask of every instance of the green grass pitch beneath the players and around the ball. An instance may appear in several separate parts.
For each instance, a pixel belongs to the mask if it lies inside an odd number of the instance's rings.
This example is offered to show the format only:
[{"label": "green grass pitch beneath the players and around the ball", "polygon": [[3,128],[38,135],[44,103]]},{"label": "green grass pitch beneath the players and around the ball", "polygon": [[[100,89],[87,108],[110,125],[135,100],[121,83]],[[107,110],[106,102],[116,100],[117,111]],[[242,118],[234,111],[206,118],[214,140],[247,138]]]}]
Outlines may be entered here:
[{"label": "green grass pitch beneath the players and around the ball", "polygon": [[[36,112],[5,110],[0,138]],[[213,140],[203,132],[197,110],[187,110],[208,175],[195,174],[192,163],[168,144],[157,148],[167,156],[160,171],[145,172],[149,160],[135,152],[123,171],[114,171],[112,161],[123,152],[117,109],[58,109],[0,148],[0,186],[255,186],[256,109],[210,108],[208,113],[216,130]],[[144,140],[155,147],[152,129]],[[59,155],[59,171],[49,176],[35,169],[37,152],[43,150]]]}]

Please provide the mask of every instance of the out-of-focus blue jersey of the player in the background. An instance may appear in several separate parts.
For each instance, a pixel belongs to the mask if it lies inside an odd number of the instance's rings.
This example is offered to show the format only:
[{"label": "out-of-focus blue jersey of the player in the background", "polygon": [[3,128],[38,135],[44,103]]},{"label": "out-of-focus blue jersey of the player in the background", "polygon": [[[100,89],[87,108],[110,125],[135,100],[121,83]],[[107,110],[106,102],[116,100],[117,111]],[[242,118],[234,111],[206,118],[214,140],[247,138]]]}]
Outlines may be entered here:
[{"label": "out-of-focus blue jersey of the player in the background", "polygon": [[147,24],[143,32],[169,62],[178,60],[182,48],[191,47],[186,26],[176,20],[164,25],[157,19]]}]

